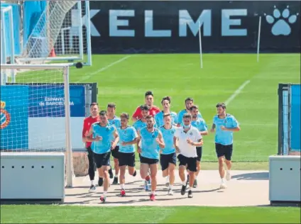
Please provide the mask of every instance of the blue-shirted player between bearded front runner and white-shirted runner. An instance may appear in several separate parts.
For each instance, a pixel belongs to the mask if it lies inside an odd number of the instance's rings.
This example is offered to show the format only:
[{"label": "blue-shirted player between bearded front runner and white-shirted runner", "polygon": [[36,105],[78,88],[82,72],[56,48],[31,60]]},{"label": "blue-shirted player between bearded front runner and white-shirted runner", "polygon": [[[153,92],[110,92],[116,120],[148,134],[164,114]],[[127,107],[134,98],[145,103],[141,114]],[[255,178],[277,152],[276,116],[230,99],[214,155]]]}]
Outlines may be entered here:
[{"label": "blue-shirted player between bearded front runner and white-shirted runner", "polygon": [[163,115],[164,125],[159,128],[163,135],[165,147],[160,154],[160,165],[163,177],[166,177],[165,186],[168,187],[168,195],[173,195],[173,184],[175,182],[175,165],[177,164],[177,155],[175,153],[175,145],[173,137],[175,135],[176,126],[172,124],[173,118],[170,113]]}]

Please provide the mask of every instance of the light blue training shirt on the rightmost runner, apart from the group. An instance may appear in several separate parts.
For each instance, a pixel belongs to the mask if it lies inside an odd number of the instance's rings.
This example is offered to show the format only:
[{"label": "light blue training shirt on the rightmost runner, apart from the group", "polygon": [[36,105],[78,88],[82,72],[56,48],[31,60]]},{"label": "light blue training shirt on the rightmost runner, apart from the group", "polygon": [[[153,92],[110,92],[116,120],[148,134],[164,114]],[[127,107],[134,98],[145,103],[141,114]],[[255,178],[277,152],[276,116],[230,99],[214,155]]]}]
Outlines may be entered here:
[{"label": "light blue training shirt on the rightmost runner, apart from the group", "polygon": [[238,121],[231,114],[227,113],[226,118],[219,118],[214,116],[213,123],[216,125],[215,142],[221,145],[231,145],[233,143],[233,131],[221,130],[221,126],[226,128],[237,128]]}]

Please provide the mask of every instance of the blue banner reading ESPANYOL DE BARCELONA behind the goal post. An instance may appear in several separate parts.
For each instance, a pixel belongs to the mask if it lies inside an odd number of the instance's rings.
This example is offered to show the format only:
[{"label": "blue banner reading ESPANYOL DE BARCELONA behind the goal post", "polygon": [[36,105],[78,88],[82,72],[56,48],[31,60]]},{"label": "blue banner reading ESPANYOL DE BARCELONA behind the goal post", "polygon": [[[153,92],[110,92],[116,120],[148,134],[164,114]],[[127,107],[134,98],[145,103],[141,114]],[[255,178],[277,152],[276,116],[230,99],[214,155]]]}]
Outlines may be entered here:
[{"label": "blue banner reading ESPANYOL DE BARCELONA behind the goal post", "polygon": [[[29,87],[29,117],[65,117],[64,86]],[[70,86],[70,116],[85,116],[84,86]]]}]

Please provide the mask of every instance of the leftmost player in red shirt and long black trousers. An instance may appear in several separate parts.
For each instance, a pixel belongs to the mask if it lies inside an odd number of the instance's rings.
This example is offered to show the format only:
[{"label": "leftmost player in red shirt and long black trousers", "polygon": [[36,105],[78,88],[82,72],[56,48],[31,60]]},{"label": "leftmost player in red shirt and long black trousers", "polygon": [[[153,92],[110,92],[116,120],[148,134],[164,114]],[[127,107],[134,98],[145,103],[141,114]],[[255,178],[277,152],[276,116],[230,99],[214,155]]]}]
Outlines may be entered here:
[{"label": "leftmost player in red shirt and long black trousers", "polygon": [[[93,152],[91,150],[92,142],[87,142],[86,137],[88,136],[89,130],[91,128],[92,123],[99,121],[99,107],[98,103],[91,103],[90,105],[90,113],[91,116],[84,118],[84,125],[82,128],[82,141],[86,143],[86,148],[88,152],[88,160],[89,160],[89,178],[91,181],[91,186],[89,192],[95,192],[96,186],[94,184],[94,176],[95,176],[95,169],[94,169],[94,159],[93,159]],[[113,172],[109,170],[110,178],[113,178]],[[98,185],[102,186],[103,178],[99,177]]]}]

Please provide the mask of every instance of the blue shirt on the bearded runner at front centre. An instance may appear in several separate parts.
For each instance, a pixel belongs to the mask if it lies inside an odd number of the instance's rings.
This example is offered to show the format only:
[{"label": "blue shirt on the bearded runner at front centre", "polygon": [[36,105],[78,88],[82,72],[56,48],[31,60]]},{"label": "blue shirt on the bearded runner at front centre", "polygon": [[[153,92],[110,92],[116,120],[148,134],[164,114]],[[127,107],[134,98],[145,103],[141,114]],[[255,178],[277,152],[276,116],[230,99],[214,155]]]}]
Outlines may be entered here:
[{"label": "blue shirt on the bearded runner at front centre", "polygon": [[159,159],[160,147],[155,139],[158,138],[160,130],[154,129],[153,133],[149,132],[147,128],[140,130],[141,156],[148,159]]}]

